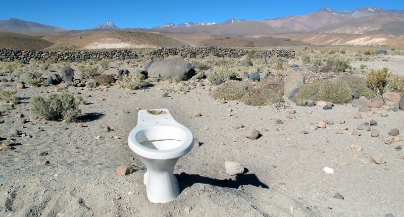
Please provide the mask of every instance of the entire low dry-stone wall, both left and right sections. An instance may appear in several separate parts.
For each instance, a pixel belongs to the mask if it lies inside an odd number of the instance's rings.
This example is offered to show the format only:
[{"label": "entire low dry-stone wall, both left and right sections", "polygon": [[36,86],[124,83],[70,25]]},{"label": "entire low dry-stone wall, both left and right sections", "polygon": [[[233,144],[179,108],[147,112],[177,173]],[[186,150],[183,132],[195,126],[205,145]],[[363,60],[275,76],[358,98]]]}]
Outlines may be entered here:
[{"label": "entire low dry-stone wall, both left and right sections", "polygon": [[[150,59],[165,59],[169,56],[179,55],[183,58],[196,58],[196,57],[228,57],[228,58],[241,58],[248,53],[252,53],[255,58],[269,58],[269,57],[285,57],[294,58],[294,50],[285,48],[274,49],[242,49],[242,48],[226,48],[226,47],[163,47],[158,48],[148,53]],[[0,49],[0,61],[20,61],[21,63],[28,63],[31,60],[46,61],[74,61],[81,62],[90,59],[112,59],[112,60],[127,60],[137,59],[138,56],[134,50],[129,49],[111,49],[111,50],[83,50],[83,51],[51,51],[51,50],[20,50],[20,49]]]}]

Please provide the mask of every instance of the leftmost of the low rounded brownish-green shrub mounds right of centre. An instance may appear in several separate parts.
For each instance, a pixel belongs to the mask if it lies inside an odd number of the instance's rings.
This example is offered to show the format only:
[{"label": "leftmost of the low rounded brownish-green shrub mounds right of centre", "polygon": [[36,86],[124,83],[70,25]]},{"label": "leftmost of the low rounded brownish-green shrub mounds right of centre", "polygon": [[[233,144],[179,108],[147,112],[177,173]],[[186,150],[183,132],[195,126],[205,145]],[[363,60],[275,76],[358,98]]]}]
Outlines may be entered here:
[{"label": "leftmost of the low rounded brownish-green shrub mounds right of centre", "polygon": [[248,84],[243,81],[226,81],[219,85],[212,93],[215,99],[236,100],[241,99],[248,89]]}]

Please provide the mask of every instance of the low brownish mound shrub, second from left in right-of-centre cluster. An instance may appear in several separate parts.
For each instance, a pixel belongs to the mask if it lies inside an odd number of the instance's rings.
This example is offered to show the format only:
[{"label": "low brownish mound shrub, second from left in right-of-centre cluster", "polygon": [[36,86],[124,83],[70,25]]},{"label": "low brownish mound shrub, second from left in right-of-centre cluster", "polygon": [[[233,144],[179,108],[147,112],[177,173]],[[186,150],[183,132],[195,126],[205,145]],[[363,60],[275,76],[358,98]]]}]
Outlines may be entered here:
[{"label": "low brownish mound shrub, second from left in right-of-centre cluster", "polygon": [[283,101],[278,91],[269,88],[262,89],[249,89],[242,97],[243,101],[247,105],[263,106],[275,104]]}]

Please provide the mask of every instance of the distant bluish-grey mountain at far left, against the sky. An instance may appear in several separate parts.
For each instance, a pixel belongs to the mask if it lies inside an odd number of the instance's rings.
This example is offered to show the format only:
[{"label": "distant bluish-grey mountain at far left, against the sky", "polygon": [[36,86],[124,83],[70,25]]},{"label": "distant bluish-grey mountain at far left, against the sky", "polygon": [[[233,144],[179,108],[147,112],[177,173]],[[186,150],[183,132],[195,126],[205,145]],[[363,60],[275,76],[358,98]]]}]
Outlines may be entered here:
[{"label": "distant bluish-grey mountain at far left, against the sky", "polygon": [[19,19],[0,20],[0,32],[16,33],[57,33],[66,31],[55,26],[48,26]]}]

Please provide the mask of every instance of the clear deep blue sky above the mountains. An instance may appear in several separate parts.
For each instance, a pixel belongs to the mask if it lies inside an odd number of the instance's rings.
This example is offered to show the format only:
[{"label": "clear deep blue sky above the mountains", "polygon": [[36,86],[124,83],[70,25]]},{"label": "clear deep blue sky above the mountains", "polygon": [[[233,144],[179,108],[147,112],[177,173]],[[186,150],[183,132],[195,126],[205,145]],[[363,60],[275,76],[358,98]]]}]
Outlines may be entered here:
[{"label": "clear deep blue sky above the mountains", "polygon": [[404,0],[2,0],[0,20],[17,18],[64,29],[90,29],[106,21],[119,28],[151,28],[168,22],[263,20],[308,14],[326,7],[343,11],[369,6],[404,10]]}]

